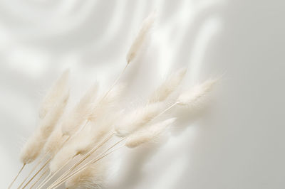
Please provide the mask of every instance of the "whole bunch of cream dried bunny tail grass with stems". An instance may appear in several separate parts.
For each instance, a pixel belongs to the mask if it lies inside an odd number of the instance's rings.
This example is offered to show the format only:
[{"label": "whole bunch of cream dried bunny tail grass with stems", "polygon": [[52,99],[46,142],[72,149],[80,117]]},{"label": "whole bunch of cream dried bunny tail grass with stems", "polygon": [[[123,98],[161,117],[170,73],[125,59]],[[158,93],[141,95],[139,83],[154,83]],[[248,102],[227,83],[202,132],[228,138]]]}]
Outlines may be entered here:
[{"label": "whole bunch of cream dried bunny tail grass with stems", "polygon": [[195,109],[202,105],[217,80],[206,80],[181,92],[180,84],[187,72],[182,68],[163,80],[144,104],[120,109],[118,102],[123,97],[124,85],[118,82],[138,57],[154,21],[155,13],[150,13],[142,22],[138,36],[130,45],[125,68],[103,95],[97,95],[98,83],[95,83],[66,111],[69,71],[63,72],[43,99],[39,112],[41,124],[21,151],[23,166],[16,178],[26,164],[39,160],[18,188],[30,184],[30,188],[58,188],[63,183],[66,188],[100,188],[108,175],[110,154],[124,146],[135,148],[159,139],[177,119],[162,116],[166,112],[170,116],[171,109]]}]

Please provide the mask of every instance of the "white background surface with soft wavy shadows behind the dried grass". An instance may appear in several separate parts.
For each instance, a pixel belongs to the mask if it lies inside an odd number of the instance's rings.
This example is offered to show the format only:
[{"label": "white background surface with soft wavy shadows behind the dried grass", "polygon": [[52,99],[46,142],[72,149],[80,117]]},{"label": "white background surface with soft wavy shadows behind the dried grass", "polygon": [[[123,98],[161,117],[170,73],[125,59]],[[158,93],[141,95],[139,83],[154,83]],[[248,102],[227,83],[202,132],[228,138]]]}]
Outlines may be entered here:
[{"label": "white background surface with soft wavy shadows behind the dried grass", "polygon": [[181,116],[159,149],[123,149],[119,155],[126,155],[116,158],[120,175],[108,188],[285,188],[284,6],[281,0],[1,1],[0,188],[21,167],[22,139],[36,127],[38,104],[53,80],[71,68],[74,99],[88,87],[83,83],[98,80],[106,88],[153,9],[159,18],[147,51],[125,76],[134,103],[183,66],[185,87],[223,78],[202,119]]}]

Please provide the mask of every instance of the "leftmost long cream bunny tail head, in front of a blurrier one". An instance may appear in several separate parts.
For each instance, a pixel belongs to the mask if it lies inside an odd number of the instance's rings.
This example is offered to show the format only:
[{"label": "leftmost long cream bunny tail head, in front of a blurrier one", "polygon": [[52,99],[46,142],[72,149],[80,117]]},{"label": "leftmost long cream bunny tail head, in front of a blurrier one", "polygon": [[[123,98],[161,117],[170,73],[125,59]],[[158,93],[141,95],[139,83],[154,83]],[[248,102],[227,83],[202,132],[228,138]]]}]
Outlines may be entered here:
[{"label": "leftmost long cream bunny tail head, in front of a blurrier one", "polygon": [[68,102],[69,92],[66,92],[63,97],[54,105],[51,112],[46,114],[46,117],[41,121],[40,126],[35,133],[28,139],[27,143],[24,145],[24,148],[21,150],[21,161],[23,163],[31,163],[34,161],[38,155],[41,153],[41,150],[48,139],[48,136],[51,135],[51,132],[56,126],[58,120],[61,118],[61,115],[64,112],[66,104]]}]

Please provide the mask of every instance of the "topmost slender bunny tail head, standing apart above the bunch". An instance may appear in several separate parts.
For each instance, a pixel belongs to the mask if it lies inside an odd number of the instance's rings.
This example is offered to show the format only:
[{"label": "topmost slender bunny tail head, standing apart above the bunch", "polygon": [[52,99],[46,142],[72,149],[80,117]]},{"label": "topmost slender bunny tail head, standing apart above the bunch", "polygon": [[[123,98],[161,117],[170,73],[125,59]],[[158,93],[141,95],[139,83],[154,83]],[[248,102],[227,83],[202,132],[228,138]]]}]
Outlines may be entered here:
[{"label": "topmost slender bunny tail head, standing apart above the bunch", "polygon": [[135,38],[135,41],[133,41],[133,44],[130,46],[130,50],[127,54],[127,62],[128,64],[132,62],[137,55],[138,51],[140,50],[142,43],[145,41],[145,38],[147,36],[147,33],[150,31],[150,28],[152,27],[152,24],[155,21],[156,13],[153,11],[150,13],[147,18],[145,18],[144,21],[142,21],[142,26],[140,28],[140,31],[138,35]]}]

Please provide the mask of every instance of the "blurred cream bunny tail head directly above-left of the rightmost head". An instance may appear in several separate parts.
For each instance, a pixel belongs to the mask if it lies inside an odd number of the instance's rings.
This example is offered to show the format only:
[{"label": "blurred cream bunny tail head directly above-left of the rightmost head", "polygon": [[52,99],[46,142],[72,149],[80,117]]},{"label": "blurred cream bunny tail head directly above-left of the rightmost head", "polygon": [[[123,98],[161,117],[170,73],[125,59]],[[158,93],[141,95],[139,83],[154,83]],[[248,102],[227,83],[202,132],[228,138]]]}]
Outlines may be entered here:
[{"label": "blurred cream bunny tail head directly above-left of the rightmost head", "polygon": [[170,75],[170,77],[168,77],[164,82],[162,82],[162,84],[157,87],[155,92],[150,95],[149,103],[162,102],[167,99],[167,97],[169,97],[169,95],[174,92],[180,85],[186,72],[187,69],[183,68]]}]

